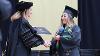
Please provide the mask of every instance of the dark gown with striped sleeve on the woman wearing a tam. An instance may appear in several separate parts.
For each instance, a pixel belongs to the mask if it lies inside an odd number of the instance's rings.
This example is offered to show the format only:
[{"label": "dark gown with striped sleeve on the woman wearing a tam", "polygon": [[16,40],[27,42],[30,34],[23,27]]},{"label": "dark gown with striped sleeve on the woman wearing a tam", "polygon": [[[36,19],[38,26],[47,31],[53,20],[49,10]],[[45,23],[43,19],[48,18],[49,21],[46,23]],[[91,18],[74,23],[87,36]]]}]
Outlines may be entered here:
[{"label": "dark gown with striped sleeve on the woman wearing a tam", "polygon": [[[22,40],[22,36],[21,36],[21,32],[22,32],[21,24],[23,24],[23,23],[25,25],[27,25],[28,27],[31,27],[30,29],[32,29],[32,26],[23,17],[13,21],[10,24],[9,37],[7,39],[6,56],[31,56],[31,48],[26,47],[25,42]],[[32,29],[32,32],[33,32],[33,34],[36,34],[36,30]],[[38,35],[38,36],[39,36],[39,38],[41,38],[40,35]],[[31,39],[31,40],[33,40],[33,39]],[[35,40],[33,40],[32,43],[34,41]],[[41,44],[44,43],[44,41],[42,39],[39,42],[35,42],[35,43],[38,44],[40,42],[41,42]],[[28,44],[31,44],[31,43],[29,42]]]}]

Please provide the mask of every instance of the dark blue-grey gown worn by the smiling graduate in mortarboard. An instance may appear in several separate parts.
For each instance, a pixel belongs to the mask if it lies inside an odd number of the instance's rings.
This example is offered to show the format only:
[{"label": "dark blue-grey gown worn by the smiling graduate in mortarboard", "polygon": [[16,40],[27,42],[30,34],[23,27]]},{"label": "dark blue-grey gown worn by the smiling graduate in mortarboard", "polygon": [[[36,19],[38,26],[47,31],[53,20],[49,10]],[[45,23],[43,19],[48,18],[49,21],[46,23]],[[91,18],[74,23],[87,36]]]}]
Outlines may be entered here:
[{"label": "dark blue-grey gown worn by the smiling graduate in mortarboard", "polygon": [[[66,27],[67,28],[67,27]],[[67,52],[69,52],[69,56],[80,56],[79,53],[79,46],[80,46],[80,40],[81,40],[81,33],[80,28],[75,25],[71,29],[71,32],[67,32],[68,29],[65,29],[63,26],[61,26],[57,32],[58,35],[60,35],[60,42],[59,42],[59,48],[56,48],[57,41],[54,39],[52,40],[52,45],[50,47],[50,55],[54,54],[55,52],[58,52],[59,56],[67,56]],[[67,39],[68,36],[71,39]]]}]

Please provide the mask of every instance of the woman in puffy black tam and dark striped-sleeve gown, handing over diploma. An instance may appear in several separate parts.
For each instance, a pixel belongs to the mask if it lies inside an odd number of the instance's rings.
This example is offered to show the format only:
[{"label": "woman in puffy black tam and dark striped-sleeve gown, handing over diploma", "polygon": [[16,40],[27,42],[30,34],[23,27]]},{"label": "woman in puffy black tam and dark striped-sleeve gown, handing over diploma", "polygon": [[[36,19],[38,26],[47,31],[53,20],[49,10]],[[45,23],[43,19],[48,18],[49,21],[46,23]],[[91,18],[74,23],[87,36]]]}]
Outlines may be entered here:
[{"label": "woman in puffy black tam and dark striped-sleeve gown, handing over diploma", "polygon": [[[16,13],[11,16],[12,23],[10,24],[10,30],[9,30],[9,38],[7,42],[7,50],[6,50],[6,56],[31,56],[31,47],[28,47],[31,42],[31,40],[34,40],[31,37],[31,31],[35,35],[36,31],[32,30],[32,26],[29,24],[28,20],[31,15],[31,7],[33,6],[32,2],[24,2],[21,1],[16,5]],[[25,30],[25,28],[21,28],[21,26],[27,26],[31,29],[26,29],[25,34],[22,30]],[[29,33],[27,35],[27,33]],[[23,34],[23,35],[22,35]],[[33,36],[33,35],[32,35]],[[37,35],[41,38],[41,36]],[[22,39],[22,37],[26,37]],[[29,38],[27,38],[29,37]],[[24,41],[25,40],[25,41]],[[26,46],[26,42],[27,45]],[[40,40],[37,44],[43,44],[44,41]]]}]

